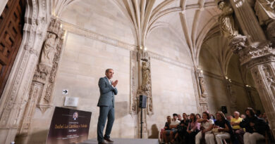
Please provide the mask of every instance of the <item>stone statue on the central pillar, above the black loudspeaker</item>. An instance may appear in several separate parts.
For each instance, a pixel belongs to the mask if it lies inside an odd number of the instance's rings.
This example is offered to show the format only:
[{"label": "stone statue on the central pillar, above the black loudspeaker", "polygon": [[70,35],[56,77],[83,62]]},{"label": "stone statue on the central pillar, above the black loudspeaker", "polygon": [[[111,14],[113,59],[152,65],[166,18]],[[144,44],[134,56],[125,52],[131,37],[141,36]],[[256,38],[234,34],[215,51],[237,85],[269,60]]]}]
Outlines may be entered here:
[{"label": "stone statue on the central pillar, above the black loudspeaker", "polygon": [[143,91],[149,91],[149,80],[150,80],[150,67],[149,62],[142,62],[142,84],[141,89]]}]

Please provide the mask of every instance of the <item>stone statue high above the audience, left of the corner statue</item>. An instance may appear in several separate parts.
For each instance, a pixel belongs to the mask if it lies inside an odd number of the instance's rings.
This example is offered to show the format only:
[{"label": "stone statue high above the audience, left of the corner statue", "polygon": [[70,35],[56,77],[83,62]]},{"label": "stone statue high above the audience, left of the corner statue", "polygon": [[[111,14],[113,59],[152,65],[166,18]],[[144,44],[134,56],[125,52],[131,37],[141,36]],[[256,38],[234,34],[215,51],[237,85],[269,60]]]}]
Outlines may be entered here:
[{"label": "stone statue high above the audience, left of the corner statue", "polygon": [[226,1],[219,1],[218,5],[219,9],[222,11],[221,15],[219,15],[221,33],[224,37],[229,39],[236,37],[238,35],[238,31],[233,19],[233,8],[227,4]]}]

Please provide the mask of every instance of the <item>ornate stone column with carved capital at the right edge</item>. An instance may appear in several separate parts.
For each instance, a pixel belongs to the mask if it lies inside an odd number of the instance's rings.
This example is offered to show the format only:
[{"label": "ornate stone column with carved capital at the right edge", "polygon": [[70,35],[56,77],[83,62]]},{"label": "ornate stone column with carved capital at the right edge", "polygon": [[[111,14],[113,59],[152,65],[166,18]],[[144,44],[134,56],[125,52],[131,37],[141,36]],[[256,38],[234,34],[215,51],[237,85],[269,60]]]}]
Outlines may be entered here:
[{"label": "ornate stone column with carved capital at the right edge", "polygon": [[[246,58],[245,67],[251,71],[269,126],[275,133],[275,51],[267,46],[247,47],[251,50]],[[248,59],[248,60],[247,60]]]}]

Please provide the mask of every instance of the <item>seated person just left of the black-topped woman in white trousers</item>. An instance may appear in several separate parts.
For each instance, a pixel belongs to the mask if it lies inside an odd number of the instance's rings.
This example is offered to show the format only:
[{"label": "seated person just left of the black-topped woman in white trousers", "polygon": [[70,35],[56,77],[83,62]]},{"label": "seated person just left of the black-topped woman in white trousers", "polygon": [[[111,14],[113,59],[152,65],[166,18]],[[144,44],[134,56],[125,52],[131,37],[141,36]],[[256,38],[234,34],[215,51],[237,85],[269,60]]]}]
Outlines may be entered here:
[{"label": "seated person just left of the black-topped woman in white trousers", "polygon": [[[197,122],[200,122],[201,131],[197,133],[195,137],[195,143],[200,144],[200,140],[204,141],[204,143],[211,144],[209,141],[206,141],[205,138],[212,135],[211,131],[213,129],[214,121],[210,119],[210,115],[208,112],[202,113],[202,119],[197,119]],[[209,139],[209,138],[207,138]]]}]

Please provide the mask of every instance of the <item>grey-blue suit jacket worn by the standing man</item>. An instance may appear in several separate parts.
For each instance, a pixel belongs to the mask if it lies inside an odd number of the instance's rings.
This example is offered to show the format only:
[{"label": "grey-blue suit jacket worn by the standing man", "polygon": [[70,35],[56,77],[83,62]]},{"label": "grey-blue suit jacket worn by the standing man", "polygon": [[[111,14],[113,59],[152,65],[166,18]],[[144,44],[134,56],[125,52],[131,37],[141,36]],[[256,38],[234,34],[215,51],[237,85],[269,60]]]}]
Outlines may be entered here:
[{"label": "grey-blue suit jacket worn by the standing man", "polygon": [[102,77],[98,82],[100,97],[97,106],[111,106],[114,107],[114,95],[118,94],[118,89],[111,86],[107,77]]}]

